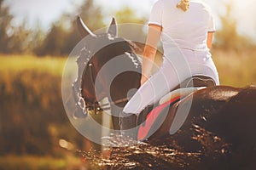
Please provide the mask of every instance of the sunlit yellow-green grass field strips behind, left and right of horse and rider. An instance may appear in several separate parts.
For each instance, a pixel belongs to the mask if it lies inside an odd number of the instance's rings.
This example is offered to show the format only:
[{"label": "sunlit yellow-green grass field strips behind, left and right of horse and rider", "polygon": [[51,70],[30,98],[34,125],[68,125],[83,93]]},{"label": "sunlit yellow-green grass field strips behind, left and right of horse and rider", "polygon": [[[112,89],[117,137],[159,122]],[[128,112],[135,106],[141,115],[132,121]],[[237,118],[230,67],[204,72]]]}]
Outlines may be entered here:
[{"label": "sunlit yellow-green grass field strips behind, left and right of horse and rider", "polygon": [[[212,50],[221,84],[235,87],[256,83],[256,50],[224,51]],[[19,71],[39,71],[61,77],[67,58],[32,55],[0,55],[1,74]]]}]

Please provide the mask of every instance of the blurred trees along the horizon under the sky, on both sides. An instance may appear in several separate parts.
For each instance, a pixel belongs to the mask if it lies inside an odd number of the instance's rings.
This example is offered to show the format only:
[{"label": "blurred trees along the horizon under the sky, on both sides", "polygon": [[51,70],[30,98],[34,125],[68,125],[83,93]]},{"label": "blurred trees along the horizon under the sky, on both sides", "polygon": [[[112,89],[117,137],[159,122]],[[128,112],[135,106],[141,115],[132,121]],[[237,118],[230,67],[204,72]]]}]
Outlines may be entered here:
[{"label": "blurred trees along the horizon under the sky, on both sides", "polygon": [[[4,0],[0,1],[1,54],[37,54],[39,56],[69,54],[81,39],[76,28],[76,17],[78,15],[82,17],[91,31],[104,27],[102,8],[97,6],[93,0],[84,0],[82,5],[76,7],[75,13],[62,14],[61,18],[52,24],[47,33],[43,32],[40,26],[33,30],[27,29],[26,20],[20,26],[13,26],[12,21],[15,17],[9,14],[9,7],[4,2]],[[219,16],[222,27],[216,32],[216,41],[213,46],[225,50],[236,49],[236,51],[255,47],[249,37],[237,32],[236,19],[233,18],[231,12],[232,4],[227,3],[226,13]],[[148,16],[137,16],[136,11],[128,7],[119,9],[115,16],[119,24],[144,24],[148,19]],[[106,17],[110,18],[109,16]]]}]

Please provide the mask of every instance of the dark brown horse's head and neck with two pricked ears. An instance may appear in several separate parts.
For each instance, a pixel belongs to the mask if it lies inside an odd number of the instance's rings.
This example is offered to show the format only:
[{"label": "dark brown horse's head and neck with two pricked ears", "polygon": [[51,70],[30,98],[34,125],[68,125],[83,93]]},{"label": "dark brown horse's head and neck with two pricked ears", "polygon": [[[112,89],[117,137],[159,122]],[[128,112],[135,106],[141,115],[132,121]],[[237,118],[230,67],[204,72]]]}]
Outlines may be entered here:
[{"label": "dark brown horse's head and neck with two pricked ears", "polygon": [[98,101],[104,97],[110,103],[124,103],[117,101],[126,101],[129,90],[140,85],[141,65],[134,53],[135,45],[117,37],[114,19],[108,31],[101,34],[90,31],[80,17],[77,25],[87,41],[77,59],[79,74],[73,82],[76,105],[86,115],[88,110],[99,111]]}]

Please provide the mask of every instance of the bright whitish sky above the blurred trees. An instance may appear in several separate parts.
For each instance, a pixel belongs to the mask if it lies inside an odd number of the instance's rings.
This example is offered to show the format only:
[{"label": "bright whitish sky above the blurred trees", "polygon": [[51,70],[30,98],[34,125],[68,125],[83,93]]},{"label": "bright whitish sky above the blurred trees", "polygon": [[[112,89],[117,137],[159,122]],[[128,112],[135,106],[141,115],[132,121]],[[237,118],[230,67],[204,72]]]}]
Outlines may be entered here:
[{"label": "bright whitish sky above the blurred trees", "polygon": [[[149,14],[152,5],[157,0],[95,0],[95,3],[102,5],[102,13],[109,18],[114,15],[114,10],[125,6],[134,8],[138,14]],[[253,37],[256,42],[256,0],[201,0],[207,3],[216,18],[217,28],[219,27],[218,14],[224,14],[224,4],[233,3],[233,17],[238,21],[238,30],[247,36]],[[83,0],[6,0],[11,6],[11,13],[17,16],[17,20],[28,19],[30,26],[37,23],[48,29],[50,23],[57,20],[64,11],[71,11],[75,5]],[[16,21],[17,21],[16,20]]]}]

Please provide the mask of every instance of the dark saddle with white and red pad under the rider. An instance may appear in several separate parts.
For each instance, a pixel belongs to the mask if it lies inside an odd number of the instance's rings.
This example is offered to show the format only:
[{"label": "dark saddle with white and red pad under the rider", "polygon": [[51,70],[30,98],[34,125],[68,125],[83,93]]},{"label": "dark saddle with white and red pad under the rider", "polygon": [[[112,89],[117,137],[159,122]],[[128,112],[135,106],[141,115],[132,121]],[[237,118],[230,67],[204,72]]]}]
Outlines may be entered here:
[{"label": "dark saddle with white and red pad under the rider", "polygon": [[[194,93],[195,91],[201,88],[207,88],[215,86],[216,83],[211,77],[207,76],[193,76],[189,77],[180,84],[177,85],[169,94],[166,94],[163,98],[160,99],[159,105],[148,105],[138,116],[137,125],[138,128],[138,139],[145,139],[148,135],[151,127],[154,126],[154,122],[160,116],[161,111],[167,106],[172,106],[180,99],[185,98],[189,94]],[[175,122],[175,120],[173,121]],[[177,127],[175,129],[170,129],[170,133],[176,133]],[[172,132],[173,131],[173,132]]]}]

